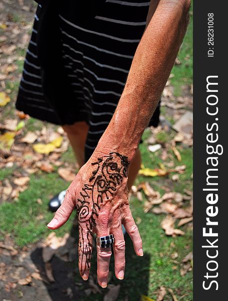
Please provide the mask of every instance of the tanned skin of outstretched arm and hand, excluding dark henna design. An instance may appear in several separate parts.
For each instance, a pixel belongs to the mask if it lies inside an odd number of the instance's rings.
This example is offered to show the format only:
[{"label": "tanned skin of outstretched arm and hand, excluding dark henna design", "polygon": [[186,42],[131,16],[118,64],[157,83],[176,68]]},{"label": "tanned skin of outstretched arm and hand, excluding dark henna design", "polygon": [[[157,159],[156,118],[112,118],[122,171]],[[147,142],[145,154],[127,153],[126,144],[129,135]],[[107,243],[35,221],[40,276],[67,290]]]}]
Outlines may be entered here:
[{"label": "tanned skin of outstretched arm and hand, excluding dark henna design", "polygon": [[[80,199],[80,192],[89,184],[98,158],[107,158],[110,153],[117,153],[127,157],[131,163],[135,157],[141,135],[157,106],[162,90],[174,64],[188,24],[190,0],[155,0],[151,2],[147,17],[147,27],[138,45],[128,79],[119,100],[116,111],[106,131],[98,142],[89,161],[82,166],[75,180],[67,190],[62,206],[50,222],[50,229],[58,229],[69,219]],[[103,160],[103,159],[102,159]],[[113,159],[119,162],[117,159]],[[102,161],[103,162],[103,161]],[[117,164],[118,165],[118,164]],[[115,165],[116,167],[116,165]],[[128,173],[129,167],[127,167]],[[121,228],[123,224],[129,233],[135,252],[143,255],[142,240],[134,222],[128,202],[127,173],[121,174],[120,183],[109,198],[104,197],[99,203],[97,214],[94,215],[95,224],[92,232],[99,236],[114,234],[113,246],[115,258],[115,275],[119,279],[124,277],[125,269],[125,241]],[[89,208],[92,200],[98,197],[98,192],[92,197],[88,190]],[[88,235],[88,222],[79,219],[82,235],[79,245],[91,244]],[[82,242],[83,239],[83,242]],[[89,252],[88,256],[91,256]],[[107,286],[111,248],[101,249],[97,246],[97,278],[102,287]],[[89,264],[82,259],[83,248],[79,247],[79,270],[84,280],[89,277]],[[90,258],[89,258],[90,259]]]}]

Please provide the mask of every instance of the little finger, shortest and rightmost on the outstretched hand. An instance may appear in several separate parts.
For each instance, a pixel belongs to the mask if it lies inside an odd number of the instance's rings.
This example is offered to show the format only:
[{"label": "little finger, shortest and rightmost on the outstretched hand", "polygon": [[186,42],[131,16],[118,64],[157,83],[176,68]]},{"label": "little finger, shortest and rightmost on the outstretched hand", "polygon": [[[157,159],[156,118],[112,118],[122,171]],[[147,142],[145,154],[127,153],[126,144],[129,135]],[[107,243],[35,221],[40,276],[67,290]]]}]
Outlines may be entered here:
[{"label": "little finger, shortest and rightmost on the outstretched hand", "polygon": [[135,253],[138,256],[143,256],[142,239],[139,234],[138,227],[136,226],[135,221],[132,217],[130,207],[127,207],[127,209],[125,209],[125,217],[122,220],[122,224],[124,225],[133,242]]}]

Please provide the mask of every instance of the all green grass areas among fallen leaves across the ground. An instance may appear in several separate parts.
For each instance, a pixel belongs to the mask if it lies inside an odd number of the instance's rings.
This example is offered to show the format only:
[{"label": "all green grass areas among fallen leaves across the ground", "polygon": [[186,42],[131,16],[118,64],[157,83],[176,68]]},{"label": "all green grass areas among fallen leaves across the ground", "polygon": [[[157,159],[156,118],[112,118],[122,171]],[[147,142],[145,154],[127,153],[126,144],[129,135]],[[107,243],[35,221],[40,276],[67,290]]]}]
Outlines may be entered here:
[{"label": "all green grass areas among fallen leaves across the ground", "polygon": [[[187,35],[184,39],[178,58],[181,62],[175,65],[172,70],[174,75],[171,78],[171,85],[174,87],[175,96],[181,95],[182,85],[190,85],[192,82],[192,22],[188,27]],[[22,70],[22,63],[19,62],[19,70]],[[7,88],[11,90],[11,98],[15,99],[18,83],[7,83]],[[9,118],[12,114],[13,104],[6,106],[3,117]],[[162,112],[165,115],[165,110]],[[165,116],[170,119],[171,116]],[[35,130],[41,126],[41,122],[33,118],[27,121],[27,130]],[[149,129],[145,130],[143,139],[145,140],[150,134]],[[174,135],[174,131],[169,133],[160,133],[160,139],[164,142],[168,141]],[[174,162],[174,166],[185,164],[186,170],[180,175],[179,182],[173,182],[171,175],[167,177],[145,178],[138,177],[136,184],[149,181],[150,185],[160,193],[164,193],[164,188],[167,186],[171,191],[183,193],[184,189],[192,189],[192,149],[183,146],[177,146],[182,161],[178,162],[172,153],[168,150],[170,161]],[[140,145],[142,153],[142,161],[147,168],[158,168],[161,151],[156,154],[149,153],[147,144],[144,141]],[[74,161],[72,149],[62,155],[62,161]],[[0,170],[0,181],[8,178],[11,179],[14,173],[14,168],[3,168]],[[12,233],[15,244],[19,247],[36,243],[45,238],[50,230],[47,228],[47,223],[51,220],[53,214],[47,211],[48,202],[51,196],[57,194],[63,189],[66,189],[70,183],[61,179],[57,171],[46,174],[38,172],[31,175],[29,188],[20,194],[18,201],[4,202],[0,205],[0,240],[7,233]],[[145,199],[145,196],[143,196]],[[37,199],[42,199],[42,204],[37,202]],[[112,277],[111,283],[121,284],[121,290],[118,297],[119,301],[124,301],[128,296],[129,301],[138,301],[141,294],[148,295],[150,298],[156,299],[157,291],[161,285],[166,288],[171,288],[177,299],[180,296],[183,301],[192,300],[192,272],[187,272],[186,275],[180,275],[181,259],[186,256],[192,249],[192,229],[188,224],[181,227],[185,232],[184,236],[168,237],[161,229],[160,223],[165,215],[155,215],[153,213],[144,213],[143,202],[139,202],[135,197],[131,198],[131,209],[135,220],[138,223],[139,231],[143,240],[144,256],[137,257],[134,254],[131,241],[126,236],[126,273],[123,281]],[[43,216],[43,218],[40,218]],[[75,213],[70,220],[56,233],[63,236],[66,232],[70,232],[73,224]],[[172,259],[171,254],[177,253],[177,258]],[[77,267],[75,267],[77,269]],[[113,258],[111,262],[111,270],[113,271]],[[96,274],[96,255],[93,253],[92,273]],[[114,272],[113,272],[114,274]],[[76,276],[76,282],[80,281],[80,276]],[[102,300],[103,295],[94,294],[94,300]],[[82,301],[91,300],[90,297],[81,299]],[[165,300],[172,300],[171,294],[167,292]]]}]

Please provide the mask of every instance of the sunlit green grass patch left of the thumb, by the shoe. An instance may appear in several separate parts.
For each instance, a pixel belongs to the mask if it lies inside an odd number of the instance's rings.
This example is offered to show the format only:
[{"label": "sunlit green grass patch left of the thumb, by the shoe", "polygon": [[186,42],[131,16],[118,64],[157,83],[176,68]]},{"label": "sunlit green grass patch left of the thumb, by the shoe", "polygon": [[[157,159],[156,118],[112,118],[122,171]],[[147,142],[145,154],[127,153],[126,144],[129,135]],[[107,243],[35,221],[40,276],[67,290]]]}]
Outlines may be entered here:
[{"label": "sunlit green grass patch left of the thumb, by the shoe", "polygon": [[[7,177],[10,176],[10,171],[3,169],[0,174],[1,178],[4,173]],[[54,187],[53,183],[55,183]],[[32,175],[29,188],[20,194],[18,201],[5,202],[1,205],[1,230],[12,233],[16,244],[20,247],[45,237],[50,233],[46,225],[53,217],[53,214],[47,210],[49,199],[61,190],[66,189],[69,184],[62,180],[57,173],[45,174],[41,172],[39,176]],[[42,205],[37,203],[38,198],[42,199]],[[37,216],[41,214],[44,215],[44,218],[37,220]],[[70,228],[71,223],[69,222],[56,232],[62,236]]]}]

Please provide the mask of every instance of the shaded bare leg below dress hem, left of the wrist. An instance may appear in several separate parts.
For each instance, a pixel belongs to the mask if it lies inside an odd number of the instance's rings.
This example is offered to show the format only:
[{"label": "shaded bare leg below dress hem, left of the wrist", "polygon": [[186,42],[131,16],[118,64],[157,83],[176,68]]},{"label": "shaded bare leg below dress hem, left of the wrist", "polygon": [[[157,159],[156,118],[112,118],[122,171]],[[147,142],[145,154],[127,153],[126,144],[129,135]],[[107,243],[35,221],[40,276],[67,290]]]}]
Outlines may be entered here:
[{"label": "shaded bare leg below dress hem, left of the wrist", "polygon": [[67,133],[76,160],[81,168],[85,163],[85,143],[89,125],[85,121],[79,121],[72,125],[64,125],[63,129]]}]

